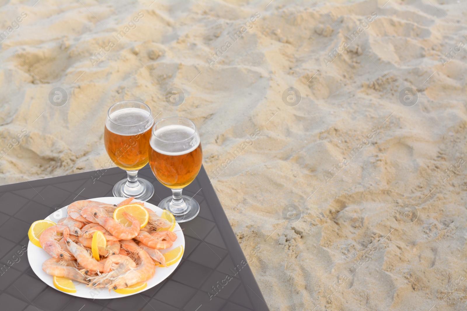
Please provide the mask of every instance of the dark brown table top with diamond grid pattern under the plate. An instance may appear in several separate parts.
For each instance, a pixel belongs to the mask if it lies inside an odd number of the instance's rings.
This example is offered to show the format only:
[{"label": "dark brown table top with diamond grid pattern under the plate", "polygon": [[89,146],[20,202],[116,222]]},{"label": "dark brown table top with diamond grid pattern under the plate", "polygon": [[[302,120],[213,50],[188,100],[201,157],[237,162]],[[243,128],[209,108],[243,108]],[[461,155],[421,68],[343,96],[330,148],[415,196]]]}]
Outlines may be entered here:
[{"label": "dark brown table top with diamond grid pattern under the plate", "polygon": [[[154,185],[149,203],[157,205],[171,195],[149,166],[140,170],[139,176]],[[0,310],[269,310],[248,265],[255,250],[247,254],[247,260],[204,167],[183,191],[199,202],[200,212],[180,224],[186,243],[182,262],[162,283],[137,295],[94,300],[43,283],[29,266],[27,253],[21,252],[28,246],[31,223],[76,200],[113,196],[113,185],[124,178],[124,171],[110,168],[0,186]]]}]

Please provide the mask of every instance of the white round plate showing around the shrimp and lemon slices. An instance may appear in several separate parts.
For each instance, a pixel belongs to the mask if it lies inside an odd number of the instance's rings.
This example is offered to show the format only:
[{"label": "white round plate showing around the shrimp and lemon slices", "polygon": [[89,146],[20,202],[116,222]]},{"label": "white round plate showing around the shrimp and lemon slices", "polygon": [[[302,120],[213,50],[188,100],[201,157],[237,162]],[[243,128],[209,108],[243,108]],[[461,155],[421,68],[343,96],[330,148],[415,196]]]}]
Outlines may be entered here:
[{"label": "white round plate showing around the shrimp and lemon slices", "polygon": [[[90,200],[109,203],[109,204],[118,204],[122,200],[124,200],[124,198],[106,197],[106,198],[95,198],[95,199],[90,199]],[[155,211],[157,215],[159,216],[162,215],[163,210],[161,208],[156,207],[155,205],[152,205],[148,202],[144,202],[144,206]],[[58,209],[53,214],[50,214],[46,218],[46,220],[57,222],[61,218],[66,217],[67,207],[68,206]],[[182,229],[180,228],[180,225],[178,223],[175,225],[174,233],[177,234],[177,240],[174,242],[172,247],[170,247],[169,249],[164,249],[163,253],[171,249],[174,249],[180,245],[183,245],[183,248],[185,249],[185,238],[184,238]],[[35,246],[31,242],[28,243],[28,260],[29,260],[29,264],[31,265],[32,270],[37,276],[39,276],[39,278],[44,283],[56,289],[53,284],[53,276],[48,275],[42,270],[42,263],[49,258],[50,258],[50,255],[47,254],[45,250],[43,250],[40,247]],[[175,263],[167,268],[156,267],[156,274],[150,280],[147,281],[148,286],[144,290],[149,290],[150,288],[156,286],[157,284],[165,280],[168,276],[170,276],[170,274],[175,269],[177,269],[177,266],[179,263],[180,261],[178,261],[178,263]],[[73,281],[73,283],[76,286],[76,293],[66,293],[66,294],[77,296],[77,297],[83,297],[83,298],[91,298],[91,299],[111,299],[111,298],[118,298],[118,297],[126,297],[130,295],[142,293],[144,291],[144,290],[140,290],[134,294],[122,295],[122,294],[115,292],[114,290],[110,290],[109,292],[109,290],[106,288],[91,289],[89,287],[86,287],[84,283],[79,283],[75,281]]]}]

